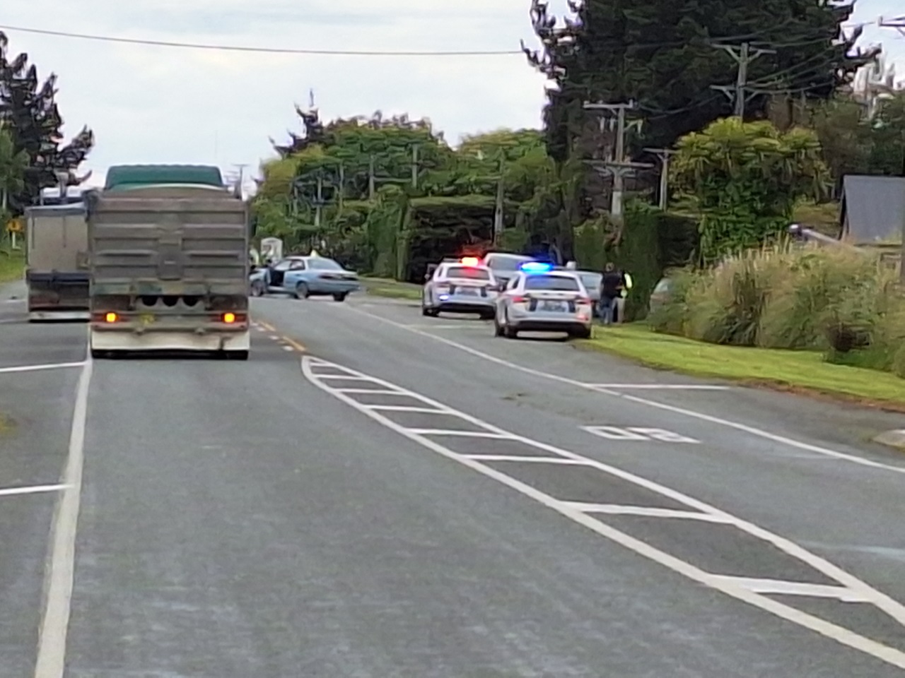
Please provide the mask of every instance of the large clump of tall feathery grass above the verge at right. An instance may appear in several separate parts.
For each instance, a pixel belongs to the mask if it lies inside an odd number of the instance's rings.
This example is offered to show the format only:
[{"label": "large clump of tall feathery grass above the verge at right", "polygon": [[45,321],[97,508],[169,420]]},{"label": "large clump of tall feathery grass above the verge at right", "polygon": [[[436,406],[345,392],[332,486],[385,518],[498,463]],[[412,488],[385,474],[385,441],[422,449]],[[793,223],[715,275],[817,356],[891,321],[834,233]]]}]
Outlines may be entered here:
[{"label": "large clump of tall feathery grass above the verge at right", "polygon": [[821,350],[834,363],[905,376],[905,297],[862,250],[749,250],[682,271],[651,317],[660,332],[713,344]]}]

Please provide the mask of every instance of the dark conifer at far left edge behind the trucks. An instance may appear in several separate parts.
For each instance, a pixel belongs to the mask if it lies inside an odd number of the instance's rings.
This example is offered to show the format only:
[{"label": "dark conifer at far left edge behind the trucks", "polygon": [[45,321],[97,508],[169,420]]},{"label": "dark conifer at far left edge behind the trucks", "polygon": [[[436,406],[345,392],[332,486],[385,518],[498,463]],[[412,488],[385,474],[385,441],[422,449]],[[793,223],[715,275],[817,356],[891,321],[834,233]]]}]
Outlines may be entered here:
[{"label": "dark conifer at far left edge behind the trucks", "polygon": [[62,117],[55,97],[56,76],[41,82],[28,55],[11,56],[8,40],[0,33],[0,121],[13,139],[15,151],[28,155],[28,167],[21,191],[11,205],[21,210],[36,201],[43,188],[58,184],[57,172],[68,173],[70,185],[80,184],[74,170],[84,162],[94,146],[94,135],[83,127],[68,145],[62,146]]}]

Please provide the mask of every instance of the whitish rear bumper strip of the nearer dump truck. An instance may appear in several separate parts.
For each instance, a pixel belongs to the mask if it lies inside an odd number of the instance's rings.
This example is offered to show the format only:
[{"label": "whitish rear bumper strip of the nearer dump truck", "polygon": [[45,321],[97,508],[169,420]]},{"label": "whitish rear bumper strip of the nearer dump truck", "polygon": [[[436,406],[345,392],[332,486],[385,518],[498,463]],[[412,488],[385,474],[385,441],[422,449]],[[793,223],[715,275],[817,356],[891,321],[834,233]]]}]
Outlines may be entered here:
[{"label": "whitish rear bumper strip of the nearer dump truck", "polygon": [[189,330],[146,332],[90,328],[92,351],[248,351],[252,333],[248,330],[197,334]]}]

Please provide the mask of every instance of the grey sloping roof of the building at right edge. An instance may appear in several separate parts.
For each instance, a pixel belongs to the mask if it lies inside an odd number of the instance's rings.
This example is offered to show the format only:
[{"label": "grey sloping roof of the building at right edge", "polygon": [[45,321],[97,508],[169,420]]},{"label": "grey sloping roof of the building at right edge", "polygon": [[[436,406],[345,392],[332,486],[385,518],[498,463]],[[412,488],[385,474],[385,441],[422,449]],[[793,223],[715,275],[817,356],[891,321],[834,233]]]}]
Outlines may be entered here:
[{"label": "grey sloping roof of the building at right edge", "polygon": [[843,179],[843,240],[854,245],[898,241],[903,220],[905,177],[850,174]]}]

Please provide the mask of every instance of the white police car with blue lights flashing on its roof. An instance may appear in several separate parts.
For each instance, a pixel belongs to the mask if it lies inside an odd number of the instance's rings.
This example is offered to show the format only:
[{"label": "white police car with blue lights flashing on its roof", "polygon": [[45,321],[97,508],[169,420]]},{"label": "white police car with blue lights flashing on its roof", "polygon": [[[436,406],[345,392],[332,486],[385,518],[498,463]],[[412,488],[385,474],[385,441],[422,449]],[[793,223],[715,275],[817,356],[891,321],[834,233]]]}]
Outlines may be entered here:
[{"label": "white police car with blue lights flashing on its roof", "polygon": [[515,339],[519,332],[565,332],[591,337],[593,306],[581,277],[571,270],[530,261],[495,300],[497,336]]}]

